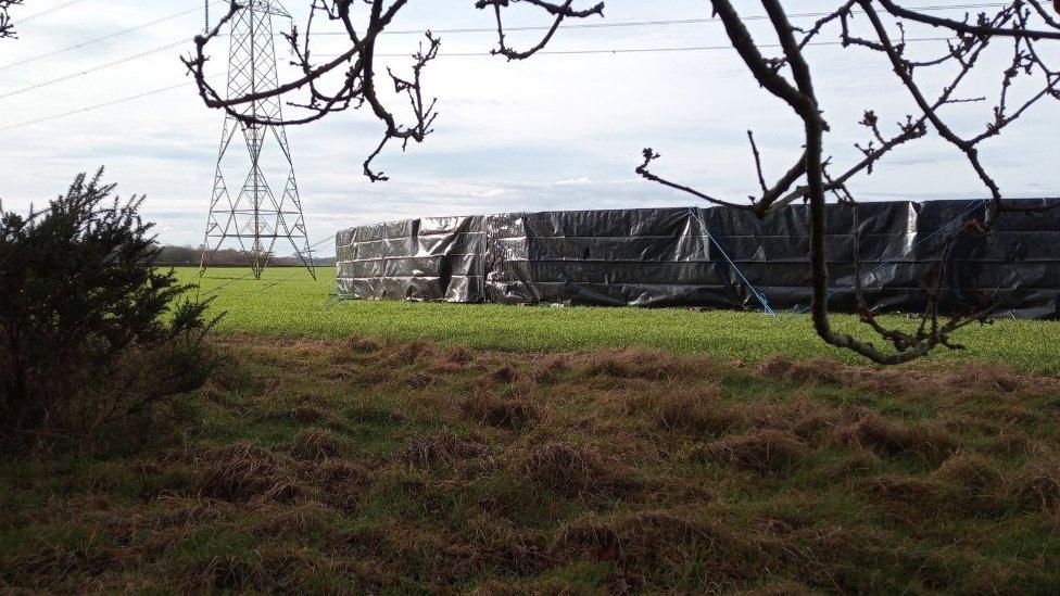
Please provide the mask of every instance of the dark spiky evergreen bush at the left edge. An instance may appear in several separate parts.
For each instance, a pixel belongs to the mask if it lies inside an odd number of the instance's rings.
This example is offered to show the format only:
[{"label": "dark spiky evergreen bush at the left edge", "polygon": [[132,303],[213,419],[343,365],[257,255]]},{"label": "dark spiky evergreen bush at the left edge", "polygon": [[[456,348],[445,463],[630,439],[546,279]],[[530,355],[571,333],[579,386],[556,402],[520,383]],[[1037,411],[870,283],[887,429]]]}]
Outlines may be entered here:
[{"label": "dark spiky evergreen bush at the left edge", "polygon": [[0,205],[0,423],[4,447],[77,439],[200,386],[217,319],[155,268],[142,196],[77,176],[28,216]]}]

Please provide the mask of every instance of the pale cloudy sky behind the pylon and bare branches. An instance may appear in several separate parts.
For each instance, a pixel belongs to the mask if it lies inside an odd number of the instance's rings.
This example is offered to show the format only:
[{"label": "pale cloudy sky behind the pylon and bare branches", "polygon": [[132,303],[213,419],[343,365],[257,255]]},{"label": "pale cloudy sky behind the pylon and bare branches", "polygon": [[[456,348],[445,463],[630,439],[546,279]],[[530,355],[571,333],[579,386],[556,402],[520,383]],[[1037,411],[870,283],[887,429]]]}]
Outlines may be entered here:
[{"label": "pale cloudy sky behind the pylon and bare branches", "polygon": [[[282,3],[304,24],[310,0]],[[834,1],[787,4],[792,12],[813,13]],[[754,0],[737,0],[736,7],[747,15],[762,14]],[[147,195],[143,214],[156,221],[162,242],[202,242],[224,115],[203,105],[179,60],[202,29],[202,0],[26,0],[13,10],[16,24],[29,21],[17,25],[18,39],[0,41],[0,200],[5,210],[41,204],[65,190],[75,174],[105,166],[105,179],[117,182],[121,194]],[[214,14],[220,11],[215,4]],[[710,16],[706,0],[606,0],[605,15],[589,23]],[[84,43],[149,23],[154,24]],[[534,11],[515,11],[509,21],[516,27],[546,24]],[[752,24],[758,39],[772,41],[760,22]],[[425,93],[438,98],[436,132],[405,152],[395,145],[383,153],[376,165],[390,181],[373,183],[362,174],[364,157],[382,134],[369,113],[335,114],[288,128],[314,242],[326,242],[350,226],[408,217],[697,204],[693,196],[634,174],[645,147],[662,154],[654,165],[658,174],[741,201],[758,188],[748,129],[755,131],[768,175],[779,176],[802,151],[798,121],[790,109],[758,88],[735,52],[716,48],[727,41],[718,23],[566,28],[548,47],[716,49],[560,53],[514,63],[449,55],[488,54],[495,34],[451,29],[492,25],[492,15],[475,10],[472,0],[411,0],[391,27],[399,33],[383,37],[378,51],[388,54],[384,64],[407,72],[405,54],[421,39],[415,31],[450,30],[439,34],[441,55],[424,78]],[[276,27],[287,25],[277,21]],[[908,35],[939,34],[910,29]],[[526,45],[535,41],[533,36],[510,37]],[[821,39],[836,38],[831,31]],[[321,39],[317,53],[341,49],[341,37]],[[944,49],[941,43],[912,42],[910,51],[933,55]],[[80,47],[59,51],[74,46]],[[1057,49],[1045,50],[1046,59],[1060,62]],[[211,72],[223,73],[227,45],[216,43],[212,55]],[[832,126],[826,152],[837,166],[856,161],[854,144],[868,140],[857,124],[867,109],[880,115],[885,132],[912,110],[881,56],[832,45],[810,48],[808,56]],[[998,47],[985,58],[983,76],[970,79],[962,96],[996,97],[1005,61]],[[923,76],[929,87],[943,80]],[[85,110],[169,87],[175,88]],[[980,130],[992,106],[989,101],[962,104],[950,114],[959,130]],[[1058,116],[1060,102],[1043,102],[984,145],[987,167],[1007,196],[1060,195]],[[853,188],[865,201],[984,196],[961,155],[934,139],[901,148]]]}]

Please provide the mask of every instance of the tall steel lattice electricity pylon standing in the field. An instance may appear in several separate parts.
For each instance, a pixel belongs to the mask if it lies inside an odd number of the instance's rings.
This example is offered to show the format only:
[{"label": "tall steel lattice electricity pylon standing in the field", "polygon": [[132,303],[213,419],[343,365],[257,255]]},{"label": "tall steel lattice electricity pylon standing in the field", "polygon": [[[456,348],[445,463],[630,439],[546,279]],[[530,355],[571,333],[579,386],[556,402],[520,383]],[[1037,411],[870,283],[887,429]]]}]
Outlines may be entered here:
[{"label": "tall steel lattice electricity pylon standing in the field", "polygon": [[[228,58],[229,98],[277,87],[279,77],[273,38],[273,16],[291,17],[277,0],[244,0],[243,4],[231,22]],[[279,98],[276,97],[248,102],[239,109],[239,112],[262,119],[282,119],[282,107]],[[229,149],[237,132],[240,132],[245,141],[250,168],[242,188],[234,200],[222,165],[226,156],[229,156]],[[261,163],[263,149],[273,144],[269,142],[270,139],[275,139],[288,172],[283,193],[279,200],[268,185]],[[200,274],[211,265],[217,251],[228,239],[236,239],[239,248],[250,255],[250,265],[255,279],[261,279],[277,241],[289,242],[298,258],[316,279],[305,217],[302,214],[302,201],[294,177],[294,162],[291,158],[287,131],[282,126],[247,124],[231,114],[225,116]]]}]

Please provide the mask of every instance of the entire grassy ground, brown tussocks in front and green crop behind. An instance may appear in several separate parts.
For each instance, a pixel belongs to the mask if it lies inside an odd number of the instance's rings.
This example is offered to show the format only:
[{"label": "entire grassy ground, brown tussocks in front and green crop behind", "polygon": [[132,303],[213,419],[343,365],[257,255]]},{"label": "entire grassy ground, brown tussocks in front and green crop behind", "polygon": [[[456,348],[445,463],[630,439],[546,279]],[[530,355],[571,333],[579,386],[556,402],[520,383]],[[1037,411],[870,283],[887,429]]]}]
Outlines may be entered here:
[{"label": "entire grassy ground, brown tussocks in front and green crop behind", "polygon": [[205,386],[0,459],[0,593],[1060,593],[1057,324],[880,369],[792,316],[232,277]]}]

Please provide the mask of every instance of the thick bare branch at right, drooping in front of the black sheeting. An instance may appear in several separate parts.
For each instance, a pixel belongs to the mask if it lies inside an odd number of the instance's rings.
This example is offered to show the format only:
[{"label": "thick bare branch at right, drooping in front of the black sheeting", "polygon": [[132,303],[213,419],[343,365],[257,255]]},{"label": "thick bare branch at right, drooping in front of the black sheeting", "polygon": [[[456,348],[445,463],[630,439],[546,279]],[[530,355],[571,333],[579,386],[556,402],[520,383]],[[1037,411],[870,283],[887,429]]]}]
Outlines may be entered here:
[{"label": "thick bare branch at right, drooping in front of the black sheeting", "polygon": [[[974,21],[968,18],[954,21],[923,14],[905,9],[891,0],[848,0],[840,3],[836,10],[817,21],[810,29],[803,30],[791,24],[781,0],[761,0],[761,5],[765,8],[772,26],[771,33],[782,48],[781,56],[767,56],[760,50],[762,46],[753,38],[744,18],[730,0],[711,0],[711,5],[715,15],[724,25],[730,42],[748,71],[755,76],[755,79],[766,91],[786,103],[802,121],[803,156],[799,158],[799,163],[770,187],[766,182],[757,144],[754,137],[748,134],[757,174],[756,181],[761,189],[761,195],[752,196],[749,205],[733,204],[730,201],[710,196],[691,186],[677,185],[652,174],[648,170],[648,165],[658,158],[658,154],[652,150],[645,150],[645,161],[636,168],[638,174],[648,180],[705,199],[714,204],[749,208],[759,216],[773,213],[796,200],[807,201],[810,205],[812,319],[818,334],[828,343],[851,350],[880,364],[908,362],[928,354],[937,346],[960,348],[952,341],[952,333],[970,324],[985,321],[993,308],[984,301],[971,309],[954,314],[946,321],[941,320],[941,303],[944,299],[942,284],[946,257],[951,252],[959,234],[988,233],[994,218],[1006,210],[1012,208],[1004,201],[999,185],[983,163],[979,145],[987,139],[1000,135],[1002,129],[1019,119],[1042,100],[1047,98],[1060,99],[1060,90],[1058,90],[1060,74],[1055,67],[1047,64],[1036,50],[1038,42],[1051,43],[1060,40],[1060,33],[1049,30],[1057,28],[1057,22],[1035,0],[1012,0],[1011,3],[1001,7],[992,15],[980,13]],[[863,14],[868,17],[869,30],[865,35],[854,33],[853,20],[856,14]],[[895,27],[892,28],[884,24],[881,14],[897,18]],[[823,35],[834,24],[838,25],[843,47],[862,48],[884,54],[891,62],[898,84],[919,109],[919,114],[906,115],[905,121],[898,124],[897,131],[891,137],[884,135],[876,113],[867,110],[859,124],[869,130],[871,138],[863,145],[861,143],[856,144],[862,158],[847,166],[838,175],[830,174],[832,164],[824,157],[824,137],[830,127],[821,115],[822,109],[815,90],[810,63],[804,53],[810,39]],[[941,58],[914,60],[908,55],[905,38],[905,30],[909,24],[947,29],[954,39],[947,41],[946,52]],[[1034,28],[1035,25],[1039,28]],[[796,36],[796,34],[799,35]],[[985,98],[962,99],[957,97],[957,93],[969,73],[979,64],[982,52],[995,38],[1009,39],[1012,45],[1012,54],[1009,66],[1000,75],[1000,91],[993,107],[993,118],[982,131],[971,136],[961,136],[957,132],[956,127],[947,121],[944,109],[955,104],[985,101]],[[928,91],[918,81],[917,73],[938,66],[952,66],[956,74],[936,96],[929,98]],[[1015,79],[1020,77],[1026,79],[1033,75],[1040,77],[1037,90],[1013,103],[1011,92]],[[943,258],[935,268],[932,280],[923,288],[928,299],[928,307],[914,332],[889,329],[880,324],[865,297],[860,263],[855,264],[857,276],[855,293],[861,320],[894,347],[893,351],[882,351],[870,342],[849,334],[838,333],[831,326],[828,308],[825,195],[828,193],[836,194],[841,203],[849,205],[856,213],[857,203],[848,187],[851,179],[859,175],[871,175],[873,168],[888,153],[900,145],[928,137],[930,130],[933,130],[935,135],[946,140],[964,156],[971,170],[974,172],[989,193],[992,206],[984,220],[970,219],[959,226],[957,230],[947,233]],[[802,183],[798,183],[799,181]],[[793,186],[795,186],[794,189],[792,189]],[[856,216],[854,233],[855,236],[858,233]]]}]

